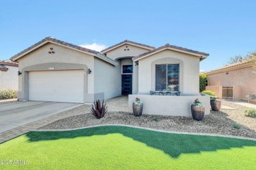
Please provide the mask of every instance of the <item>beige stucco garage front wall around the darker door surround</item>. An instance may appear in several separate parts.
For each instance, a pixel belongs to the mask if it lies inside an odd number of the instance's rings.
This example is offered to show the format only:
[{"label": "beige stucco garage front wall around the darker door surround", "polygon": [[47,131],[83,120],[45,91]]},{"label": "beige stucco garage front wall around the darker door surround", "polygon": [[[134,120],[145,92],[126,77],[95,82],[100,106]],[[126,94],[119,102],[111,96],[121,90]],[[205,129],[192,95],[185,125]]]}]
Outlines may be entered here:
[{"label": "beige stucco garage front wall around the darker door surround", "polygon": [[[53,48],[54,54],[49,54],[50,48]],[[94,70],[94,57],[89,54],[84,54],[82,52],[78,52],[72,50],[70,48],[66,48],[64,46],[59,46],[52,43],[47,43],[44,46],[41,46],[37,50],[34,50],[30,54],[27,54],[23,58],[18,59],[19,63],[19,71],[22,71],[22,75],[18,77],[18,94],[20,94],[21,98],[26,99],[26,93],[22,92],[24,87],[27,86],[24,76],[28,76],[28,73],[24,73],[24,69],[28,67],[32,67],[33,65],[42,65],[44,63],[73,63],[77,65],[85,65],[85,68]],[[33,68],[34,69],[34,68]],[[65,70],[65,68],[63,68]],[[94,95],[94,74],[91,73],[88,75],[87,71],[85,71],[85,78],[87,78],[87,89],[85,89],[85,93],[88,95]],[[93,99],[93,97],[90,97]]]}]

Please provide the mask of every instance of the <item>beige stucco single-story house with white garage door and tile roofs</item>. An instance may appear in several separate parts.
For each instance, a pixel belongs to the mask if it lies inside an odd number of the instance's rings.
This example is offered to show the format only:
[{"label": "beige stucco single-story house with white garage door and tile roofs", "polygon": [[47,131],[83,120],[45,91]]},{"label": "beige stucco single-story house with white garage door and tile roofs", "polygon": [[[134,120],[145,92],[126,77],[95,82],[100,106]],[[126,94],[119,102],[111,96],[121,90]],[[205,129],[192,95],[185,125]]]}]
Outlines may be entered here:
[{"label": "beige stucco single-story house with white garage door and tile roofs", "polygon": [[199,95],[199,63],[209,54],[123,41],[101,52],[47,37],[18,61],[18,99],[87,103],[150,90]]}]

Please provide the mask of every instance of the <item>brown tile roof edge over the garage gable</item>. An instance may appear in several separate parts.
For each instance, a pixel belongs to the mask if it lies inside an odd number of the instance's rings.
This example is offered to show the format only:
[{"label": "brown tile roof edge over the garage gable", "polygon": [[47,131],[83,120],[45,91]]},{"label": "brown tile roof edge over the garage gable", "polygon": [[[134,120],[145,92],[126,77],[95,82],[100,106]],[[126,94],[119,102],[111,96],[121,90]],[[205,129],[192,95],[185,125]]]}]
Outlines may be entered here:
[{"label": "brown tile roof edge over the garage gable", "polygon": [[43,39],[43,40],[33,44],[32,46],[26,48],[22,52],[19,52],[15,56],[12,56],[11,60],[13,60],[14,58],[17,58],[18,56],[21,56],[22,54],[28,52],[29,50],[32,50],[33,48],[35,48],[39,44],[42,44],[43,42],[54,42],[56,44],[61,44],[63,46],[67,46],[69,48],[74,48],[74,49],[79,50],[79,51],[88,52],[88,53],[91,53],[93,56],[96,56],[96,57],[98,57],[100,59],[108,61],[109,63],[112,63],[114,65],[118,65],[117,61],[114,61],[113,59],[108,58],[107,56],[104,56],[104,55],[100,54],[100,52],[97,52],[95,50],[91,50],[91,49],[88,49],[88,48],[83,48],[81,46],[77,46],[77,45],[74,45],[74,44],[70,44],[68,42],[60,41],[58,39],[54,39],[53,37],[46,37],[45,39]]}]

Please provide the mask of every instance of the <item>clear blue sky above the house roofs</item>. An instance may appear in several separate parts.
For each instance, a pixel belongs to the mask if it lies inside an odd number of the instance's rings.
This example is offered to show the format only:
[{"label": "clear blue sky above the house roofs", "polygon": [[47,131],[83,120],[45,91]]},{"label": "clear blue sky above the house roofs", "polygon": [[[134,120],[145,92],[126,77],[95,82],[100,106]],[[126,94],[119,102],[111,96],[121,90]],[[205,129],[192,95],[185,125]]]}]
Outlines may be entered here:
[{"label": "clear blue sky above the house roofs", "polygon": [[128,39],[209,53],[200,69],[256,50],[256,1],[0,1],[0,59],[45,37],[104,48]]}]

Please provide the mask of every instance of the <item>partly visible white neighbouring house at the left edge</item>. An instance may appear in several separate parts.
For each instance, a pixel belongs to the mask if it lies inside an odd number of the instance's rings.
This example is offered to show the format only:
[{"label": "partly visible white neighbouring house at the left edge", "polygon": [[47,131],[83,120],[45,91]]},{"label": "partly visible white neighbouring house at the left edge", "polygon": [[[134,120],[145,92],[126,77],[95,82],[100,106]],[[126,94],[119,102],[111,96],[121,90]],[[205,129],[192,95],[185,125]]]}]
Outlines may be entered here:
[{"label": "partly visible white neighbouring house at the left edge", "polygon": [[18,90],[18,63],[0,60],[0,90]]}]

